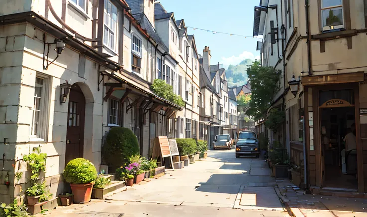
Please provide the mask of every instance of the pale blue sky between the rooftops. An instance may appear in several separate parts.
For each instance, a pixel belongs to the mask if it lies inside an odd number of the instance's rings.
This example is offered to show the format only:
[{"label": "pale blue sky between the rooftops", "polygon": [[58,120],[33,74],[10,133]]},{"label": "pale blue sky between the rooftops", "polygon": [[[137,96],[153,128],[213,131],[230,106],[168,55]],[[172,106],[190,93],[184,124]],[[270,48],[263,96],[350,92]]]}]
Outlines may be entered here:
[{"label": "pale blue sky between the rooftops", "polygon": [[199,54],[205,46],[211,50],[211,64],[220,62],[224,67],[237,65],[245,59],[260,59],[256,51],[258,39],[252,38],[254,6],[259,0],[159,0],[167,12],[174,12],[176,20],[184,19],[186,26],[215,32],[249,37],[213,34],[188,28],[194,34]]}]

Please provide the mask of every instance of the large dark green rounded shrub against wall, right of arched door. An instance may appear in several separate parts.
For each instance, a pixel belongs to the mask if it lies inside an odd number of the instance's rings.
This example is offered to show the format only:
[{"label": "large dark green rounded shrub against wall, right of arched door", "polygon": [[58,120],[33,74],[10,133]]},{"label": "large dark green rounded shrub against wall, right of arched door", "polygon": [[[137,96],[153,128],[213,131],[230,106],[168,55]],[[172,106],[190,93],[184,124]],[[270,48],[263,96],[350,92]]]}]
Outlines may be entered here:
[{"label": "large dark green rounded shrub against wall, right of arched door", "polygon": [[139,154],[138,139],[133,131],[128,128],[114,127],[108,132],[103,145],[103,161],[111,171],[128,163],[129,157]]}]

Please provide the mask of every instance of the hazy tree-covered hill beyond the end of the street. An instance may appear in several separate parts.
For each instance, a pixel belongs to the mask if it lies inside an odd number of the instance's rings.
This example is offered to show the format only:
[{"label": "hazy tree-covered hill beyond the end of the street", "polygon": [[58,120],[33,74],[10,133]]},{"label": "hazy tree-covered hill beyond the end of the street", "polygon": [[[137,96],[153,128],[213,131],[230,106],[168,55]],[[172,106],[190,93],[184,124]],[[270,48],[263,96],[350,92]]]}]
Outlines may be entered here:
[{"label": "hazy tree-covered hill beyond the end of the street", "polygon": [[225,70],[228,79],[228,87],[241,86],[247,83],[247,65],[252,64],[251,59],[245,59],[238,65],[229,65]]}]

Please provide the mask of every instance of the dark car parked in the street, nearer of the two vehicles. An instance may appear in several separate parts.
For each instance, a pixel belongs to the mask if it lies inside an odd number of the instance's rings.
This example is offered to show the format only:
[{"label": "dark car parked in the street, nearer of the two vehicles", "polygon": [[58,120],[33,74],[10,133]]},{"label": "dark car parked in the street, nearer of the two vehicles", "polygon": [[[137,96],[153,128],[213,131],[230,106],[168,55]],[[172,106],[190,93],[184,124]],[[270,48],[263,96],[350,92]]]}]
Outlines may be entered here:
[{"label": "dark car parked in the street, nearer of the two vehicles", "polygon": [[259,140],[253,131],[241,131],[236,141],[236,158],[241,155],[255,155],[259,157]]}]

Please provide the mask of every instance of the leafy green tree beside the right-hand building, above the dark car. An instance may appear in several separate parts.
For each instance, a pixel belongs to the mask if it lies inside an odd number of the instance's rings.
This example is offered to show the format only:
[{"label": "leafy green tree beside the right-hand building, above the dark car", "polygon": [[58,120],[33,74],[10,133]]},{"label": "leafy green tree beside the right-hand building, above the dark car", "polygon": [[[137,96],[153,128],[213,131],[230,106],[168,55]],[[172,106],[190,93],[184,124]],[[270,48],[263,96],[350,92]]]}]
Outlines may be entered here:
[{"label": "leafy green tree beside the right-hand building, above the dark car", "polygon": [[274,95],[279,91],[280,70],[273,67],[260,66],[255,61],[247,68],[247,75],[251,84],[251,99],[246,115],[255,119],[265,117]]}]

